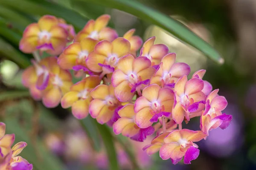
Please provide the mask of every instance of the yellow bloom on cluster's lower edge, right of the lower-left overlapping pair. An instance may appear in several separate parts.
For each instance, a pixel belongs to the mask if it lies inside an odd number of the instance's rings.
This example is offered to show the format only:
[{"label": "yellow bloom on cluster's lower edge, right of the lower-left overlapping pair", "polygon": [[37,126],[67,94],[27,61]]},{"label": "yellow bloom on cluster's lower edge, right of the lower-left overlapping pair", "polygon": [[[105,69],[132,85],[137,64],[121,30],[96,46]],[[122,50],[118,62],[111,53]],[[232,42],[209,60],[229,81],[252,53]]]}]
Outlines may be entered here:
[{"label": "yellow bloom on cluster's lower edge, right of the lower-left overlapping pair", "polygon": [[89,114],[89,105],[93,98],[90,92],[100,83],[99,76],[86,77],[72,85],[70,91],[61,99],[62,108],[72,107],[72,114],[77,119],[84,119]]}]

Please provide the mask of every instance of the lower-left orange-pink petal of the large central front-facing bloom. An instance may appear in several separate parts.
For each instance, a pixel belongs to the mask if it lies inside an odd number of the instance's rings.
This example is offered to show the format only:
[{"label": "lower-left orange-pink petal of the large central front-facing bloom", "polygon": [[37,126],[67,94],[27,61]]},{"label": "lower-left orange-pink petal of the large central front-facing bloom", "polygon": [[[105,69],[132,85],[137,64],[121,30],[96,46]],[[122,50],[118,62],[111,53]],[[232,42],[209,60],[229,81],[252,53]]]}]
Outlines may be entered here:
[{"label": "lower-left orange-pink petal of the large central front-facing bloom", "polygon": [[131,93],[131,87],[128,83],[128,81],[123,81],[115,88],[115,96],[121,102],[128,102],[134,96],[134,93]]}]

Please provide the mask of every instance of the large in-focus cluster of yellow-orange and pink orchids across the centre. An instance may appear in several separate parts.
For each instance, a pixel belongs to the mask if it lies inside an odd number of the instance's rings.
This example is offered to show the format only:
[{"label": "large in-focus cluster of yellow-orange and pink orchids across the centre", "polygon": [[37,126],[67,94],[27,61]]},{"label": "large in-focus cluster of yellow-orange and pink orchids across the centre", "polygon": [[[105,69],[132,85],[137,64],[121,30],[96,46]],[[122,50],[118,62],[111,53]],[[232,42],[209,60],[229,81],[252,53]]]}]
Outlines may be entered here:
[{"label": "large in-focus cluster of yellow-orange and pink orchids across the centre", "polygon": [[[64,20],[49,15],[27,26],[20,50],[36,60],[24,71],[23,85],[46,107],[61,103],[77,119],[90,114],[115,134],[139,142],[156,135],[143,148],[146,153],[159,151],[173,164],[184,157],[190,164],[199,155],[194,142],[230,125],[232,116],[221,112],[227,100],[203,80],[205,70],[188,80],[189,65],[176,62],[166,45],[154,44],[155,37],[143,43],[135,29],[119,37],[107,27],[109,20],[107,14],[89,20],[76,35]],[[40,59],[43,52],[53,56]],[[70,72],[81,81],[73,84]],[[182,129],[194,117],[201,117],[201,130]]]}]

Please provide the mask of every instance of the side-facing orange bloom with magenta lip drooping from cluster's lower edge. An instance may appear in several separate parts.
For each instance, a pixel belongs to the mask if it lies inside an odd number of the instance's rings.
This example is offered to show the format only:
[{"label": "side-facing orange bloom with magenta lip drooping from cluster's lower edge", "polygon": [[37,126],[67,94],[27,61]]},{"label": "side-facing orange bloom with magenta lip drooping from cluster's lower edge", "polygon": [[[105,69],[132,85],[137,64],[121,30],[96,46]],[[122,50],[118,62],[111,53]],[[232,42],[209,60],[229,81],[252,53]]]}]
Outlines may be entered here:
[{"label": "side-facing orange bloom with magenta lip drooping from cluster's lower edge", "polygon": [[153,127],[141,129],[136,125],[133,104],[125,105],[118,111],[118,114],[120,118],[113,125],[113,131],[116,135],[122,133],[123,136],[143,142],[146,136],[154,133]]}]

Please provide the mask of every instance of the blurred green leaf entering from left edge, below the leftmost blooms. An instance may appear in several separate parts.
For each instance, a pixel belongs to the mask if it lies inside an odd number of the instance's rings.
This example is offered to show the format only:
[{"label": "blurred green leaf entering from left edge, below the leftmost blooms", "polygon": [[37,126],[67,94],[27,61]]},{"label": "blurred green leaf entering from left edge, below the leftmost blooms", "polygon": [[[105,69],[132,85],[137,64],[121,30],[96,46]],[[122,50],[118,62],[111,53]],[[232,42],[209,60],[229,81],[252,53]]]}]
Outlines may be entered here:
[{"label": "blurred green leaf entering from left edge, below the leftmost blooms", "polygon": [[0,92],[0,102],[9,99],[19,99],[30,96],[29,91],[4,91]]}]

